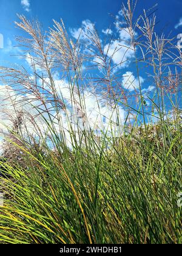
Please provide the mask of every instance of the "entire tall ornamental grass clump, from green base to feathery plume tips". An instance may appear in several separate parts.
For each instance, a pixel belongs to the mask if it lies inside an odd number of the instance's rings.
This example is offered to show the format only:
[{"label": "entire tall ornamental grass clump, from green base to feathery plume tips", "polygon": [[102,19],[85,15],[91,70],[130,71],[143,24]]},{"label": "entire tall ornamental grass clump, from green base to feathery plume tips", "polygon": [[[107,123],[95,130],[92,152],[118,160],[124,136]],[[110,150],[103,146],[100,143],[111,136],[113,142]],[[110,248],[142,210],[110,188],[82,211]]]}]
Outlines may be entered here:
[{"label": "entire tall ornamental grass clump, from green base to feathery plume tips", "polygon": [[19,16],[30,70],[0,70],[0,243],[181,243],[181,50],[135,8],[118,46]]}]

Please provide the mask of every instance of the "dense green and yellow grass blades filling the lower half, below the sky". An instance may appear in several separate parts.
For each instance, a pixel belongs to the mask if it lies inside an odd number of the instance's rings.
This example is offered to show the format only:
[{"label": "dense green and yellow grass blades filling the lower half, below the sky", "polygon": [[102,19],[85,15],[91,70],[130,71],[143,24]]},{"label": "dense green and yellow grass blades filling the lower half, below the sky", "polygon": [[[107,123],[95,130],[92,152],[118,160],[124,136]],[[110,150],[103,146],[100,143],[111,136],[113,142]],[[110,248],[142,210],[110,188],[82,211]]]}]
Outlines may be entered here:
[{"label": "dense green and yellow grass blades filling the lower half, below the sky", "polygon": [[106,149],[88,135],[71,154],[25,152],[26,169],[1,162],[1,241],[180,243],[181,140],[170,128],[166,152],[157,136],[131,133]]}]

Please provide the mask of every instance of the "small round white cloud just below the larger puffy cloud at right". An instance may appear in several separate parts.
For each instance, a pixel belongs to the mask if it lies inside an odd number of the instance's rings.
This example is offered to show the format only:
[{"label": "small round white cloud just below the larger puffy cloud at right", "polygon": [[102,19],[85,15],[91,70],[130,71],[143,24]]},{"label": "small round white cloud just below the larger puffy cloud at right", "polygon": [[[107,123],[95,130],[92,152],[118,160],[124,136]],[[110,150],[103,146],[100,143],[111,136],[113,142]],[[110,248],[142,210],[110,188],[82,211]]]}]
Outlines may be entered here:
[{"label": "small round white cloud just below the larger puffy cloud at right", "polygon": [[140,77],[140,83],[139,83],[139,79],[135,78],[132,72],[127,71],[123,75],[122,85],[124,88],[126,88],[126,90],[133,91],[140,88],[140,85],[143,84],[143,82],[144,82],[143,77]]}]

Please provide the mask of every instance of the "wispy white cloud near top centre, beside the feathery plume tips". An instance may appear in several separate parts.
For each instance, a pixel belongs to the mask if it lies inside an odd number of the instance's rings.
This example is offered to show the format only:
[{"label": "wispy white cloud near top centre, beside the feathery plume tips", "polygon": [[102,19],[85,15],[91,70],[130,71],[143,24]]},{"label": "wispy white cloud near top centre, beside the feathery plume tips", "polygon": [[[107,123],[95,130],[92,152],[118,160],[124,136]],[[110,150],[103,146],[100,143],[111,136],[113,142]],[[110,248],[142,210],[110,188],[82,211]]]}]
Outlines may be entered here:
[{"label": "wispy white cloud near top centre, beside the feathery plume tips", "polygon": [[88,36],[90,32],[93,31],[93,23],[90,20],[82,21],[82,26],[78,29],[70,29],[70,32],[76,40],[79,38],[80,40],[88,41]]}]

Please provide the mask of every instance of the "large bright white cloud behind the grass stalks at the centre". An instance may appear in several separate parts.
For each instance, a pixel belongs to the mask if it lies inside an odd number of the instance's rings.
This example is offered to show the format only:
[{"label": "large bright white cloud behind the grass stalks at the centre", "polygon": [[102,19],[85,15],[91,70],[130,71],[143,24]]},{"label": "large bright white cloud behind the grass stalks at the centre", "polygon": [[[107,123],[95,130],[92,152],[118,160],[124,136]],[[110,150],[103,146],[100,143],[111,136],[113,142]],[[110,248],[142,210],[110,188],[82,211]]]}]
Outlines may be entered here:
[{"label": "large bright white cloud behind the grass stalks at the centre", "polygon": [[[75,124],[79,118],[79,125],[81,126],[85,119],[89,129],[106,130],[110,125],[109,121],[112,121],[112,126],[115,126],[118,118],[120,123],[118,127],[123,125],[125,115],[123,108],[118,107],[117,111],[113,110],[113,107],[110,107],[107,101],[102,99],[101,94],[96,94],[94,91],[85,88],[83,95],[78,96],[78,91],[76,89],[72,90],[65,80],[55,80],[55,88],[59,95],[69,103],[70,107],[72,106],[72,115],[74,115],[72,116],[72,122],[75,122]],[[82,105],[82,108],[80,105]],[[111,128],[108,127],[108,129],[111,132]]]}]

